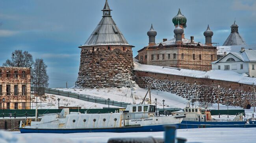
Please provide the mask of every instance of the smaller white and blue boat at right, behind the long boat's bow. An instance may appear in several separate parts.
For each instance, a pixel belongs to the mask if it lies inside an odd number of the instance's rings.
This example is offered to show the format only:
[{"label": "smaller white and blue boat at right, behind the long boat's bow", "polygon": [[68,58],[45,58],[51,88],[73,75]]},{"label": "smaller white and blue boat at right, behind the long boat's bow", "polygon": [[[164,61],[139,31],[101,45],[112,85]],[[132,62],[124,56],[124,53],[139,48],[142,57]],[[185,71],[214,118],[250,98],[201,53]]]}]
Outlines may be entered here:
[{"label": "smaller white and blue boat at right, behind the long boat's bow", "polygon": [[182,110],[171,112],[172,116],[184,115],[178,129],[192,128],[250,128],[256,127],[256,119],[243,118],[243,114],[237,114],[234,119],[213,119],[211,118],[210,109],[201,109],[199,107],[191,107],[190,102]]}]

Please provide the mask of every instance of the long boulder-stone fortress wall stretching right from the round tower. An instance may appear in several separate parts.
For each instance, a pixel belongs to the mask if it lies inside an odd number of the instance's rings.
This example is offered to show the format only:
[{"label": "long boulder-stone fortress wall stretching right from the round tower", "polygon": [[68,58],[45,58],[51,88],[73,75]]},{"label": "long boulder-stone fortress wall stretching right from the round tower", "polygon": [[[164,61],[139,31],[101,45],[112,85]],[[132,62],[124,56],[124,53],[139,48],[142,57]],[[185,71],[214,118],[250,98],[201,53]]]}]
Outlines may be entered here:
[{"label": "long boulder-stone fortress wall stretching right from the round tower", "polygon": [[[229,103],[232,106],[243,108],[247,107],[248,104],[253,106],[254,94],[252,91],[247,90],[252,85],[231,87],[235,83],[220,80],[213,81],[219,84],[200,84],[199,81],[207,81],[209,79],[189,78],[189,80],[186,80],[186,78],[184,76],[166,76],[166,74],[135,71],[135,80],[141,88],[147,89],[147,85],[150,84],[154,90],[171,92],[192,101],[211,101],[212,103],[218,103],[219,95],[219,103],[224,105]],[[220,85],[219,89],[218,85]]]}]

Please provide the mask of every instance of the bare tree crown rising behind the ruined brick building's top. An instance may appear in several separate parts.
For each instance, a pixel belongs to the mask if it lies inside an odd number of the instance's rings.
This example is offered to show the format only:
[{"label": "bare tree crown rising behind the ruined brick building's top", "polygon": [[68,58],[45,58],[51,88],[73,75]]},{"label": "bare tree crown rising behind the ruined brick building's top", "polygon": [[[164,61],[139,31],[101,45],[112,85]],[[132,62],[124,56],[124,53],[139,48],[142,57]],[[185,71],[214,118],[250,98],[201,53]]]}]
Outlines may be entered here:
[{"label": "bare tree crown rising behind the ruined brick building's top", "polygon": [[6,67],[32,67],[33,57],[28,51],[15,50],[12,52],[11,60],[7,59],[3,66]]}]

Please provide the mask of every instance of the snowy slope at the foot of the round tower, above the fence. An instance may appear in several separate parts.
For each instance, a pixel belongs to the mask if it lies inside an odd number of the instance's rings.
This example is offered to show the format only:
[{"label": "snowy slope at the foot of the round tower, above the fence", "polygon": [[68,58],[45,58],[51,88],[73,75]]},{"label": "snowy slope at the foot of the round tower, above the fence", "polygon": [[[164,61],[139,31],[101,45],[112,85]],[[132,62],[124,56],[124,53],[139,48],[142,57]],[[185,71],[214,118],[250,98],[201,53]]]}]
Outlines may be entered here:
[{"label": "snowy slope at the foot of the round tower, above the fence", "polygon": [[[110,98],[110,100],[114,100],[114,101],[132,103],[131,91],[130,91],[130,88],[127,88],[127,87],[122,87],[120,89],[118,88],[103,88],[103,89],[75,89],[75,88],[66,89],[64,88],[64,89],[58,89],[58,90],[69,91],[77,94],[85,94],[95,98],[102,98],[102,99]],[[147,89],[140,88],[137,84],[135,84],[135,87],[132,89],[132,92],[135,97],[135,102],[141,103],[145,94],[147,93]],[[149,98],[149,95],[147,96],[147,98]],[[186,104],[187,104],[187,100],[185,98],[182,98],[170,92],[151,90],[151,98],[152,98],[152,104],[156,103],[155,98],[157,98],[158,108],[163,108],[162,100],[165,100],[165,106],[170,108],[184,108],[186,107]],[[198,104],[195,103],[195,105],[197,106]],[[213,104],[211,109],[218,109],[218,104]],[[227,109],[227,106],[220,104],[220,109]],[[241,109],[241,107],[229,106],[228,109]]]}]

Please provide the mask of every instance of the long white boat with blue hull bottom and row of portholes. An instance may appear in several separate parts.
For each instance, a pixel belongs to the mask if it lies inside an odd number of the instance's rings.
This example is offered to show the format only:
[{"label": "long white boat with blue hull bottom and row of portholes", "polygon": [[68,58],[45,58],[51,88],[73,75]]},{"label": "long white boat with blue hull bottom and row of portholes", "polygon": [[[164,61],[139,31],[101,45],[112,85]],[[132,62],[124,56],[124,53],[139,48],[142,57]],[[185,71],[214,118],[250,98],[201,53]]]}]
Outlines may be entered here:
[{"label": "long white boat with blue hull bottom and row of portholes", "polygon": [[21,133],[77,132],[159,132],[163,125],[179,125],[182,116],[155,116],[152,104],[128,105],[123,112],[87,114],[62,109],[59,114],[44,114],[40,121],[20,122]]}]

